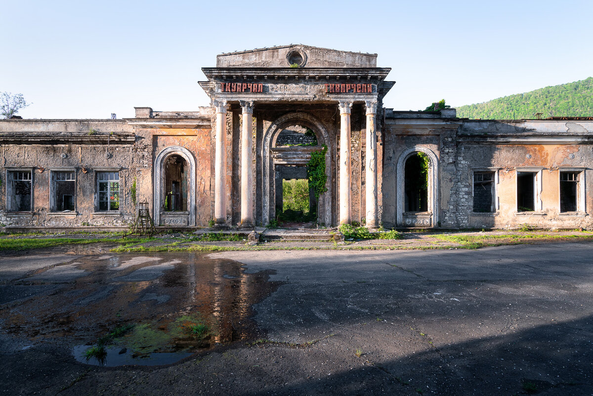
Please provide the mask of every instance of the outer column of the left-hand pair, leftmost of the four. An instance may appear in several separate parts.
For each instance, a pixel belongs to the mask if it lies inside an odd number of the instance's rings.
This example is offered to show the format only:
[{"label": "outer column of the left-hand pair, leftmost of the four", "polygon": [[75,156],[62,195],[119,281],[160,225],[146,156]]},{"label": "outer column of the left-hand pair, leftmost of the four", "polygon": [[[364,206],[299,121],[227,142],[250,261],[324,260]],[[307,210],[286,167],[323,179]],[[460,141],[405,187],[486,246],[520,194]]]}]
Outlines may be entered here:
[{"label": "outer column of the left-hand pair, leftmost of the four", "polygon": [[216,108],[216,150],[214,155],[214,221],[227,223],[227,101],[213,102]]}]

